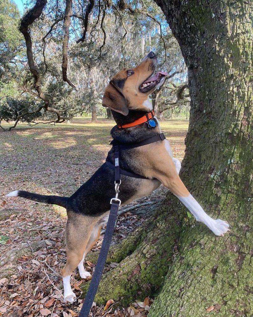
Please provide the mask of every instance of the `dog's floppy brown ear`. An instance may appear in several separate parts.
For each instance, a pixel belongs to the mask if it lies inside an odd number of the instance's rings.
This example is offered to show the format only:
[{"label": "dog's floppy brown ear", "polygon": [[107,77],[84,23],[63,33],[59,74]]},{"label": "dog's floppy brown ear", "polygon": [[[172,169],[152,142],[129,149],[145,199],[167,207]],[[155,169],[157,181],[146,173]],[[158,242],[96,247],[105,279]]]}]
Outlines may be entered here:
[{"label": "dog's floppy brown ear", "polygon": [[109,85],[105,88],[102,106],[122,113],[125,116],[128,114],[127,100],[120,93],[120,91],[116,89],[111,81]]}]

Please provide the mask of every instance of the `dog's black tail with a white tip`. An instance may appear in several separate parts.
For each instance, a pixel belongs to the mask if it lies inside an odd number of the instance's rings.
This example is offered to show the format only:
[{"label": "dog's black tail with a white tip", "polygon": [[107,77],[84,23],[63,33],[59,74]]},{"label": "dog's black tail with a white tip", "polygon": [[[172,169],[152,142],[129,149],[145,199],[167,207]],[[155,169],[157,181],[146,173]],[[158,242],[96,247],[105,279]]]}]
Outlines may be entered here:
[{"label": "dog's black tail with a white tip", "polygon": [[51,204],[51,205],[59,205],[62,207],[67,206],[67,202],[69,197],[60,197],[60,196],[48,196],[48,195],[39,195],[39,194],[34,194],[30,193],[29,191],[12,191],[7,197],[23,197],[27,199],[31,199],[34,201],[38,201],[40,203],[45,203],[45,204]]}]

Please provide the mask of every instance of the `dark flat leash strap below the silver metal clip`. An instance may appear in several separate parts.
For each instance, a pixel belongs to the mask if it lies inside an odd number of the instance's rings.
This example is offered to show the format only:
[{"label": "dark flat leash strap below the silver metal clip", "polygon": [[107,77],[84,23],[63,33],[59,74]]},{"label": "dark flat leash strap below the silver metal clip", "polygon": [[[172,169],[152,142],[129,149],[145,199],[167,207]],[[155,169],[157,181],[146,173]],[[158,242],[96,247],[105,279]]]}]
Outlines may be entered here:
[{"label": "dark flat leash strap below the silver metal clip", "polygon": [[89,284],[89,289],[85,296],[85,301],[83,303],[83,307],[81,309],[79,317],[89,317],[89,311],[92,306],[94,297],[96,295],[97,288],[98,288],[98,285],[103,273],[103,269],[105,266],[108,250],[109,250],[110,243],[112,240],[112,235],[114,232],[114,226],[115,226],[118,210],[119,210],[119,202],[117,200],[112,200],[108,223],[105,230],[105,236],[104,236],[102,247],[101,247],[99,257],[97,260],[95,272],[92,275],[92,279]]}]

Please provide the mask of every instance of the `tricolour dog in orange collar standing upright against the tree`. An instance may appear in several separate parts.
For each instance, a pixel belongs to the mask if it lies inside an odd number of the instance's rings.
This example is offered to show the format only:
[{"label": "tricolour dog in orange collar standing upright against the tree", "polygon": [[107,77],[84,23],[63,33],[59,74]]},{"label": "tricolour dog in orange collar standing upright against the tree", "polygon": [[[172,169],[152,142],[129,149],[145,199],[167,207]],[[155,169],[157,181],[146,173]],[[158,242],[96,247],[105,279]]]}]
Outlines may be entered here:
[{"label": "tricolour dog in orange collar standing upright against the tree", "polygon": [[[110,80],[102,105],[112,110],[117,124],[111,130],[113,142],[123,145],[136,144],[161,133],[157,118],[152,118],[150,126],[147,115],[153,110],[148,97],[164,83],[167,75],[164,72],[153,75],[156,67],[157,56],[150,52],[136,68],[123,69]],[[145,116],[146,122],[135,124]],[[108,152],[106,162],[114,164],[113,147]],[[122,205],[149,195],[163,184],[188,208],[197,221],[206,224],[215,235],[223,236],[229,230],[227,222],[209,217],[189,193],[178,175],[181,163],[173,158],[168,140],[161,139],[152,145],[121,151],[120,168],[143,177],[122,175]],[[66,302],[76,299],[70,285],[73,270],[78,267],[81,278],[90,276],[84,269],[83,261],[97,242],[102,225],[108,221],[110,199],[114,194],[114,171],[107,164],[103,164],[71,197],[44,196],[27,191],[13,191],[7,195],[66,208],[67,261],[62,269]]]}]

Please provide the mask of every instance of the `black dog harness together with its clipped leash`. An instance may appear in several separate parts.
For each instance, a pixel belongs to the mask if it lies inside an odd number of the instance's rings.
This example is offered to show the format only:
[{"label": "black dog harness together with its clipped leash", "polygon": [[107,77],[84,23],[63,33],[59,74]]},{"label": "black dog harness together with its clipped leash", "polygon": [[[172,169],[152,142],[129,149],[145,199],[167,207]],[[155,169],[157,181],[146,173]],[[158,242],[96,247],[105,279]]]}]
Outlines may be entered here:
[{"label": "black dog harness together with its clipped leash", "polygon": [[149,139],[145,139],[144,141],[141,141],[141,142],[136,143],[136,144],[113,145],[113,147],[114,147],[114,157],[115,157],[114,165],[112,163],[108,162],[108,161],[106,161],[104,163],[109,168],[114,170],[114,182],[115,182],[116,196],[115,196],[115,198],[111,199],[111,209],[110,209],[110,213],[109,213],[108,223],[107,223],[107,226],[106,226],[102,247],[101,247],[101,250],[100,250],[100,253],[99,253],[99,257],[98,257],[98,260],[97,260],[95,272],[92,275],[92,279],[91,279],[91,282],[90,282],[90,285],[89,285],[89,289],[88,289],[87,294],[85,296],[85,301],[83,303],[83,307],[81,309],[79,317],[88,317],[89,316],[89,312],[90,312],[93,300],[95,298],[99,282],[101,280],[101,276],[102,276],[103,269],[104,269],[104,266],[105,266],[107,254],[108,254],[109,247],[110,247],[110,243],[111,243],[111,240],[112,240],[112,235],[113,235],[113,232],[114,232],[114,226],[115,226],[115,222],[116,222],[116,219],[117,219],[119,206],[121,204],[120,199],[118,199],[119,185],[121,184],[121,174],[122,175],[126,175],[126,176],[130,176],[130,177],[134,177],[134,178],[149,179],[149,178],[147,178],[147,177],[145,177],[143,175],[139,175],[139,174],[133,173],[131,171],[125,171],[125,170],[121,169],[120,168],[120,164],[119,164],[120,151],[133,149],[135,147],[144,146],[144,145],[151,144],[151,143],[154,143],[154,142],[157,142],[157,141],[162,141],[164,139],[166,139],[164,134],[160,133],[160,134],[158,134],[158,135],[156,135],[154,137],[151,137]]}]

